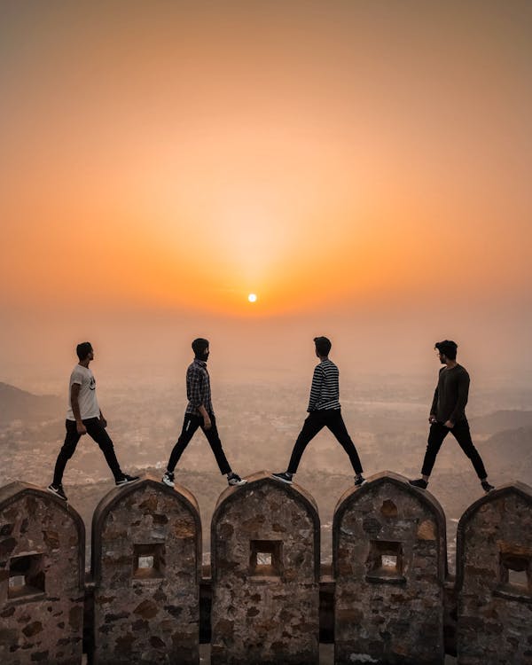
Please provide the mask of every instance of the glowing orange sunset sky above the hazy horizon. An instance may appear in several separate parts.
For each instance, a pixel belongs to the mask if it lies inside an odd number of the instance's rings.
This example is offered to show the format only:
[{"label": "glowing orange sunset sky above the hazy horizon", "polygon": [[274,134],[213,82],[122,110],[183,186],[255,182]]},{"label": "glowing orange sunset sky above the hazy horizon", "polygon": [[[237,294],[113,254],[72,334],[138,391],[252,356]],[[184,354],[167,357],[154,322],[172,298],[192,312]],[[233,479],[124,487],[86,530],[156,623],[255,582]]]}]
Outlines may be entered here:
[{"label": "glowing orange sunset sky above the hazy horizon", "polygon": [[4,316],[529,309],[531,35],[525,1],[2,4]]}]

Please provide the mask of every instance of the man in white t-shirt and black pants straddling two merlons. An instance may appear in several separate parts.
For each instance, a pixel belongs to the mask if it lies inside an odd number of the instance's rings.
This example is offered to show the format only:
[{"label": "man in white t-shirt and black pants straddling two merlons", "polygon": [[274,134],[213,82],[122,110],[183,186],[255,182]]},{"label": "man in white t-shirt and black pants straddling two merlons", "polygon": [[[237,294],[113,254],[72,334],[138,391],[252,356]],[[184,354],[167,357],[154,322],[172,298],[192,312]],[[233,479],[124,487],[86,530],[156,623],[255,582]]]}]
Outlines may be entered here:
[{"label": "man in white t-shirt and black pants straddling two merlons", "polygon": [[65,443],[59,450],[53,481],[48,486],[56,497],[62,498],[64,501],[66,501],[66,494],[61,482],[66,462],[74,455],[74,450],[83,434],[89,434],[98,443],[113,472],[116,485],[127,485],[129,482],[138,480],[138,476],[131,476],[121,471],[118,459],[114,454],[113,441],[106,433],[107,421],[99,408],[96,381],[94,374],[89,369],[90,361],[94,360],[92,345],[88,341],[83,341],[77,345],[75,350],[80,362],[76,364],[70,375]]}]

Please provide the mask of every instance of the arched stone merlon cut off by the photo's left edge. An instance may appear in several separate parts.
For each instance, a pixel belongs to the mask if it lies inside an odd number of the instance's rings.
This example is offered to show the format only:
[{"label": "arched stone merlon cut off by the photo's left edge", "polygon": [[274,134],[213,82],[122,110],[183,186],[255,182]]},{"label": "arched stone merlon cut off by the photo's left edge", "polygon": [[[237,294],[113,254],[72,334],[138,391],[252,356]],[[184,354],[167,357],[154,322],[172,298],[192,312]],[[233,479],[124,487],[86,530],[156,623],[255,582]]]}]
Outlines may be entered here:
[{"label": "arched stone merlon cut off by the photo's left edge", "polygon": [[85,527],[51,492],[0,489],[0,662],[82,662]]}]

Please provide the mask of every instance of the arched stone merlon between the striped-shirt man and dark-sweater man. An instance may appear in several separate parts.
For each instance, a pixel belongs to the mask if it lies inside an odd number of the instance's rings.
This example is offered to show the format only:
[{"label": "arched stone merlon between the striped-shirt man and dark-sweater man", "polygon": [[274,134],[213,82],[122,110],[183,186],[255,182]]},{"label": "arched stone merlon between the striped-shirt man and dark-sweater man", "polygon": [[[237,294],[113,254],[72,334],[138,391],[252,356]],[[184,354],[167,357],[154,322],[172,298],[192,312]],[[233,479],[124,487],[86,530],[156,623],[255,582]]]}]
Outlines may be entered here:
[{"label": "arched stone merlon between the striped-shirt man and dark-sweater man", "polygon": [[445,515],[389,471],[348,489],[332,520],[335,662],[444,661]]}]

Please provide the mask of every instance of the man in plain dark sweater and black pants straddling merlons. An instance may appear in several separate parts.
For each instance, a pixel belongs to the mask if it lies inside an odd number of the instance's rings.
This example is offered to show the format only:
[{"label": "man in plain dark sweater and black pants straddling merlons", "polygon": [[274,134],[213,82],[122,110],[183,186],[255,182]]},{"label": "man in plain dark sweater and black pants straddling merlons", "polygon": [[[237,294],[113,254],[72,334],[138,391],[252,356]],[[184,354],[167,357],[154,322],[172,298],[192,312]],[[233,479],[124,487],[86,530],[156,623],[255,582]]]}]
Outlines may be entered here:
[{"label": "man in plain dark sweater and black pants straddling merlons", "polygon": [[488,473],[482,463],[478,450],[473,445],[469,423],[465,418],[465,404],[469,393],[469,374],[457,363],[458,345],[452,340],[443,340],[434,347],[438,351],[440,362],[445,366],[440,370],[438,385],[434,391],[434,400],[428,422],[430,431],[426,444],[425,459],[421,469],[421,478],[410,481],[414,487],[426,489],[428,477],[433,470],[436,455],[443,439],[451,433],[473,464],[485,492],[494,489],[488,482]]}]

